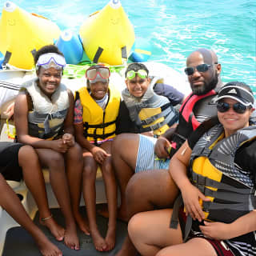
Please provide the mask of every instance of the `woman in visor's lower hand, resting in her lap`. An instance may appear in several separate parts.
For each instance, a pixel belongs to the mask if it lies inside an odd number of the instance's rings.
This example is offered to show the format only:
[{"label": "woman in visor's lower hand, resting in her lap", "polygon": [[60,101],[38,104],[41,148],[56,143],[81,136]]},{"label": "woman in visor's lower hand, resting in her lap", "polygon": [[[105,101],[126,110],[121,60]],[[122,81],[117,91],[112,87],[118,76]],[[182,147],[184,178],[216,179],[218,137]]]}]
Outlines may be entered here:
[{"label": "woman in visor's lower hand, resting in her lap", "polygon": [[230,232],[230,224],[222,222],[204,222],[205,226],[199,226],[207,238],[217,239],[217,240],[226,240],[234,238]]}]

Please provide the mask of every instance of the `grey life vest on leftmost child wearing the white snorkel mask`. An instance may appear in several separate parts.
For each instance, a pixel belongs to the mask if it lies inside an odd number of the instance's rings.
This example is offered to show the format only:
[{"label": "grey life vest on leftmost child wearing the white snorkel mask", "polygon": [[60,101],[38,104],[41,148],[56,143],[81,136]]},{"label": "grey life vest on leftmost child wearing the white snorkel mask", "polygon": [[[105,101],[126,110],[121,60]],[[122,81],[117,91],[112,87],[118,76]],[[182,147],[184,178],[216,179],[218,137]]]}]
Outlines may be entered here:
[{"label": "grey life vest on leftmost child wearing the white snorkel mask", "polygon": [[30,136],[54,139],[62,132],[67,110],[70,106],[66,86],[60,84],[50,98],[37,85],[37,78],[22,84],[32,99],[33,109],[28,113]]}]

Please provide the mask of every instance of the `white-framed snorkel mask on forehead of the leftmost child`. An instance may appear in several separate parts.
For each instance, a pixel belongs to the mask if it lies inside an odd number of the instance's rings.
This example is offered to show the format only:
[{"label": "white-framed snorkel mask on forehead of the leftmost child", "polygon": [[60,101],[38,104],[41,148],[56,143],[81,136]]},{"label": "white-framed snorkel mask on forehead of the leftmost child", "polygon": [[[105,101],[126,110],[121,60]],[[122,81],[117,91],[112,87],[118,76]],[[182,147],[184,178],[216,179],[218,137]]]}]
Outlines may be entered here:
[{"label": "white-framed snorkel mask on forehead of the leftmost child", "polygon": [[54,67],[56,70],[62,70],[66,66],[66,60],[60,54],[42,54],[35,65],[36,70],[38,70],[39,66],[42,66],[44,69]]}]

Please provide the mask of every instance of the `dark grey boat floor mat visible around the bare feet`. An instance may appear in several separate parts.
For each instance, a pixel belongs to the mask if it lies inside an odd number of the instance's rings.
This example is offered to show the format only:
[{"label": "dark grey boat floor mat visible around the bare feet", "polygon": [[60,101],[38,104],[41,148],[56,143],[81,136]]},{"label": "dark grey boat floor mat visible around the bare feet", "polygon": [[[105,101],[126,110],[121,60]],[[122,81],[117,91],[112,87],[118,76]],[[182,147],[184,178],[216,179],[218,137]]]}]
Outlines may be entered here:
[{"label": "dark grey boat floor mat visible around the bare feet", "polygon": [[[82,214],[86,212],[84,206],[81,207]],[[55,220],[62,226],[64,226],[64,218],[59,209],[51,209],[52,214],[54,215]],[[78,230],[78,236],[80,240],[80,250],[71,250],[64,245],[63,242],[58,242],[54,239],[53,235],[50,234],[49,230],[45,226],[42,226],[38,222],[38,213],[35,215],[34,222],[40,226],[41,230],[46,234],[51,242],[54,242],[60,250],[62,250],[63,255],[65,256],[112,256],[118,253],[122,246],[122,242],[127,234],[126,223],[118,221],[117,225],[117,234],[116,234],[116,246],[114,250],[110,252],[98,252],[94,248],[92,238],[86,234],[83,234],[82,231]],[[99,230],[102,236],[106,235],[107,229],[107,218],[103,218],[100,215],[97,215],[97,223]],[[21,226],[13,227],[6,233],[6,242],[4,249],[2,251],[2,256],[40,256],[38,247],[36,246],[33,238],[24,230]]]}]

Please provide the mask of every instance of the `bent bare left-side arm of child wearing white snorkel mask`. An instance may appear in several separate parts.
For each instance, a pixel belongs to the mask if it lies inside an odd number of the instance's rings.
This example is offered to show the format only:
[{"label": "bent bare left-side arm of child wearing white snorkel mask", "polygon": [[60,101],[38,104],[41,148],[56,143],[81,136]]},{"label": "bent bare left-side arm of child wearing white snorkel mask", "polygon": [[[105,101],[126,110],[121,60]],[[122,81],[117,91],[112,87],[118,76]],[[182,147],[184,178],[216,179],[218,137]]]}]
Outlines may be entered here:
[{"label": "bent bare left-side arm of child wearing white snorkel mask", "polygon": [[14,122],[18,142],[28,144],[34,148],[52,149],[65,153],[67,146],[62,143],[62,139],[47,141],[45,139],[32,137],[28,133],[28,106],[25,92],[20,92],[14,104]]}]

